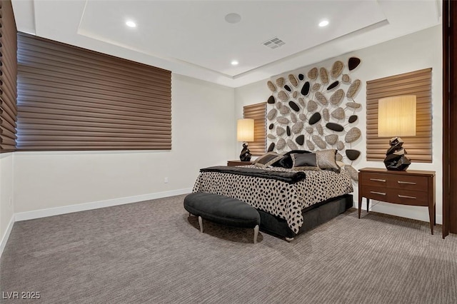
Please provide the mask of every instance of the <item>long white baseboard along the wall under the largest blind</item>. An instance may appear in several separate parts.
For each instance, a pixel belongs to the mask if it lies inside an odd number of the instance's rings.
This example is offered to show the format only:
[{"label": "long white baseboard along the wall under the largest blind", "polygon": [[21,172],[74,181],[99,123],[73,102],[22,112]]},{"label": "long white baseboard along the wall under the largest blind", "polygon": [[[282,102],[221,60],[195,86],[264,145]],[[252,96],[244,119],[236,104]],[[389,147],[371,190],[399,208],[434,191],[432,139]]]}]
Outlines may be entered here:
[{"label": "long white baseboard along the wall under the largest blind", "polygon": [[114,198],[106,201],[96,201],[92,203],[81,203],[76,205],[62,206],[49,209],[41,209],[34,211],[26,211],[15,214],[16,221],[32,220],[34,218],[45,218],[47,216],[59,216],[61,214],[73,213],[79,211],[86,211],[98,208],[105,208],[117,205],[124,205],[126,203],[137,203],[141,201],[154,200],[156,198],[166,198],[169,196],[179,196],[181,194],[191,193],[192,188],[184,188],[173,191],[164,191],[158,193],[144,194],[141,196],[129,196],[126,198]]}]

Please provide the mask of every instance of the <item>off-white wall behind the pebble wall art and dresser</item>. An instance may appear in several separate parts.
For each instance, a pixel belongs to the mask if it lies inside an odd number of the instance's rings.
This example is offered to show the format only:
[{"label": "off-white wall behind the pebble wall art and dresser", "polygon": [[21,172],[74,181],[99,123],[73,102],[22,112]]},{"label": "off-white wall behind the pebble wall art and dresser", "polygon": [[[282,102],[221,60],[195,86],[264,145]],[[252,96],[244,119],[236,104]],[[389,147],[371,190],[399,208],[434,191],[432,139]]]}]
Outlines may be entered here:
[{"label": "off-white wall behind the pebble wall art and dresser", "polygon": [[[363,104],[357,126],[361,129],[363,136],[366,133],[366,81],[393,76],[419,69],[432,68],[432,112],[433,112],[433,163],[412,163],[410,169],[436,171],[436,221],[442,223],[442,95],[443,95],[443,78],[442,78],[442,52],[441,52],[441,26],[419,31],[408,36],[384,42],[376,46],[370,46],[366,49],[353,51],[348,54],[322,61],[312,66],[306,66],[296,71],[303,74],[308,73],[309,69],[314,66],[324,66],[331,68],[336,60],[347,63],[347,59],[356,56],[361,59],[362,63],[355,71],[351,73],[352,78],[361,79],[363,85],[358,92],[355,100]],[[287,76],[287,71],[284,71]],[[297,73],[295,73],[297,74]],[[276,76],[272,77],[276,79]],[[242,86],[235,89],[236,116],[242,116],[243,106],[249,103],[266,101],[271,95],[271,91],[266,86],[266,81],[259,81],[248,86]],[[255,99],[255,101],[254,101]],[[362,151],[362,156],[353,163],[355,168],[378,167],[384,168],[381,161],[366,161],[366,141],[361,140],[352,145],[352,148]],[[354,201],[358,201],[357,185],[354,189]],[[363,200],[365,202],[365,200]],[[376,201],[374,204],[378,203]],[[371,204],[373,206],[373,204]],[[366,208],[363,203],[363,208]],[[373,206],[372,211],[389,213],[396,216],[407,218],[416,218],[422,221],[428,221],[427,208],[415,206],[401,206],[390,203],[378,203]]]}]

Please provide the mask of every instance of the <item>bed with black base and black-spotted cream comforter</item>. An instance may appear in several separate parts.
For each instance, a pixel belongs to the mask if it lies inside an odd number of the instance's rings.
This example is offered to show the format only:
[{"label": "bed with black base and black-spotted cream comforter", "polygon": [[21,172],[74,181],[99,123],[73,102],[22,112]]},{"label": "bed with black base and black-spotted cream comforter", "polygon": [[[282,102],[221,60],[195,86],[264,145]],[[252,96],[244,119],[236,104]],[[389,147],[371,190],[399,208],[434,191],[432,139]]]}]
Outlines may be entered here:
[{"label": "bed with black base and black-spotted cream comforter", "polygon": [[[288,156],[292,157],[293,165],[299,165],[294,158],[296,153]],[[277,163],[277,158],[275,160]],[[317,166],[283,168],[271,164],[270,160],[267,166],[254,163],[241,167],[220,166],[217,170],[211,169],[216,167],[201,169],[193,192],[229,196],[250,204],[261,215],[261,230],[288,240],[353,206],[352,180],[343,166],[338,166],[338,170],[321,170]],[[230,168],[262,171],[268,176],[231,172]],[[293,182],[270,178],[275,172],[300,173],[303,178]]]}]

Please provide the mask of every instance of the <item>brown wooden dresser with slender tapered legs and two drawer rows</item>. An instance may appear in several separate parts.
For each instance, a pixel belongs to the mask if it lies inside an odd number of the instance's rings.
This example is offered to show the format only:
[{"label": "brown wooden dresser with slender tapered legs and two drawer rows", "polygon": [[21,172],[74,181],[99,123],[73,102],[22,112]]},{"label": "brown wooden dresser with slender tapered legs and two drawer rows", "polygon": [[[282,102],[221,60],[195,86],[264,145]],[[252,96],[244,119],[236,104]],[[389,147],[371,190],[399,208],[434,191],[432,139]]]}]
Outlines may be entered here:
[{"label": "brown wooden dresser with slender tapered legs and two drawer rows", "polygon": [[388,171],[383,168],[363,168],[358,172],[358,218],[362,198],[366,211],[370,199],[387,203],[428,207],[431,234],[436,224],[435,171]]}]

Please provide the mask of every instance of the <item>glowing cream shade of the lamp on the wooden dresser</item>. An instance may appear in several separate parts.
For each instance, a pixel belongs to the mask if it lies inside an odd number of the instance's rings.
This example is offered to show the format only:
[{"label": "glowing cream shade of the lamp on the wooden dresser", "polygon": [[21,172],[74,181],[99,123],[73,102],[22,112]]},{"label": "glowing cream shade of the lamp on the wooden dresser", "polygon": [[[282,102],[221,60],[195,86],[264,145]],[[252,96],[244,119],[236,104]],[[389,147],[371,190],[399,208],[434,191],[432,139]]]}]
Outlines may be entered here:
[{"label": "glowing cream shade of the lamp on the wooden dresser", "polygon": [[379,99],[378,136],[416,136],[416,95]]}]

